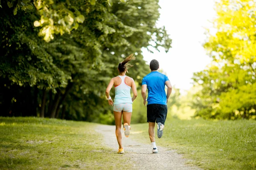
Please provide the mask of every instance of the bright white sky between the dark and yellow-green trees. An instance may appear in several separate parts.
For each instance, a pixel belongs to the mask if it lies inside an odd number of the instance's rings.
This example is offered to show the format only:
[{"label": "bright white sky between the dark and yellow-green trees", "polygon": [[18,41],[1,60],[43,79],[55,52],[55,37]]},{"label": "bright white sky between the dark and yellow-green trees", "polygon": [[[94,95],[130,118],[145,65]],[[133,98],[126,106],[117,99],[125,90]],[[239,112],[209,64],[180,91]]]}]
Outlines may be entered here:
[{"label": "bright white sky between the dark and yellow-green trees", "polygon": [[143,49],[145,61],[157,59],[172,85],[182,91],[192,87],[194,72],[203,70],[210,58],[202,47],[205,29],[215,17],[214,0],[160,0],[158,26],[165,26],[172,39],[172,48],[151,54]]}]

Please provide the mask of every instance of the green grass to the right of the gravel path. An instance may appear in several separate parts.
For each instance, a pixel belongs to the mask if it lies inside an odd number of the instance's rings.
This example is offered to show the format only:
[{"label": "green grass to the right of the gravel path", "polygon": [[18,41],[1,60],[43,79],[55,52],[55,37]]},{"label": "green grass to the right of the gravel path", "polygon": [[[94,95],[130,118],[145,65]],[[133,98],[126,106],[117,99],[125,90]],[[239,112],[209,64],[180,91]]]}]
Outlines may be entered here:
[{"label": "green grass to the right of the gravel path", "polygon": [[[131,138],[150,143],[148,124],[133,125]],[[166,121],[157,145],[177,149],[187,162],[209,170],[256,169],[256,121]],[[193,161],[192,161],[193,160]]]}]

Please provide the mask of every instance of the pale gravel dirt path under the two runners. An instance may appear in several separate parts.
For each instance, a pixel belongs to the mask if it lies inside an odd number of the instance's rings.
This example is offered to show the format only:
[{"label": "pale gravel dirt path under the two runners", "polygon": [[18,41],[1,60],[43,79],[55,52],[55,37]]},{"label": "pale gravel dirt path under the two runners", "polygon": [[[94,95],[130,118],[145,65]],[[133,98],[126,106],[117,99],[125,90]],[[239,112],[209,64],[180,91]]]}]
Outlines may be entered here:
[{"label": "pale gravel dirt path under the two runners", "polygon": [[[102,133],[105,139],[105,145],[113,148],[113,152],[118,149],[116,141],[115,126],[99,125],[97,131]],[[131,131],[132,135],[133,131]],[[164,169],[164,170],[199,170],[198,167],[186,165],[188,161],[182,158],[182,154],[178,154],[175,150],[169,150],[165,147],[157,146],[157,154],[152,154],[150,144],[141,144],[124,136],[122,130],[122,144],[125,150],[125,156],[134,162],[133,169]]]}]

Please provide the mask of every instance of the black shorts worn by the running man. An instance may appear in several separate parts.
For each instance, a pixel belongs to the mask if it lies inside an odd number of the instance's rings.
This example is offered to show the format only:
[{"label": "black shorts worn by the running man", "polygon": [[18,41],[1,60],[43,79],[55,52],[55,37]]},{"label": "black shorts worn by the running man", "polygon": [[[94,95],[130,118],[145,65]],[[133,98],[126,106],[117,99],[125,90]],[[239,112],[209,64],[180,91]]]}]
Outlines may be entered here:
[{"label": "black shorts worn by the running man", "polygon": [[167,116],[167,105],[147,105],[147,122],[161,122],[164,125]]}]

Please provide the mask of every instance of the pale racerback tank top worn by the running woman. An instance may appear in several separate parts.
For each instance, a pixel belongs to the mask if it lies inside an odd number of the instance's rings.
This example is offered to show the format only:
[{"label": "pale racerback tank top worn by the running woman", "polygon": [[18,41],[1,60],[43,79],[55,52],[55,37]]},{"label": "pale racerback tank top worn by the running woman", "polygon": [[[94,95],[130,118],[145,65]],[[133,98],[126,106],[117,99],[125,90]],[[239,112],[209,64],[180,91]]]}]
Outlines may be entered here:
[{"label": "pale racerback tank top worn by the running woman", "polygon": [[126,76],[119,76],[122,80],[121,84],[115,86],[115,99],[114,105],[118,105],[121,103],[132,103],[131,101],[131,86],[125,84],[125,77]]}]

